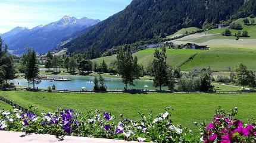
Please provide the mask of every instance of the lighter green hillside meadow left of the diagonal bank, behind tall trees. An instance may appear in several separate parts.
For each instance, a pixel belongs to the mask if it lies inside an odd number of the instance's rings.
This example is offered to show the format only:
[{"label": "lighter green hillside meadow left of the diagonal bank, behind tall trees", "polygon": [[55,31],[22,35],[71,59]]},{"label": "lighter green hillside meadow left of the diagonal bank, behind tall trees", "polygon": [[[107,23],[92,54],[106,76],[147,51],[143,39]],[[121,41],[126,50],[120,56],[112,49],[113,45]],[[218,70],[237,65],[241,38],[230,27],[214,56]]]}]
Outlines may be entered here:
[{"label": "lighter green hillside meadow left of the diagonal bank, behind tall trees", "polygon": [[[148,66],[148,63],[152,62],[154,59],[154,48],[151,49],[145,49],[141,50],[139,52],[136,52],[133,54],[133,56],[138,57],[138,63],[142,64],[144,67]],[[167,55],[167,63],[170,64],[173,67],[182,65],[183,62],[187,61],[189,58],[191,58],[192,55],[195,55],[196,53],[204,53],[207,52],[205,50],[192,50],[192,49],[167,49],[166,55]],[[107,57],[101,57],[97,59],[93,59],[93,62],[101,63],[105,60],[107,64],[114,61],[116,59],[116,56],[107,56]]]}]

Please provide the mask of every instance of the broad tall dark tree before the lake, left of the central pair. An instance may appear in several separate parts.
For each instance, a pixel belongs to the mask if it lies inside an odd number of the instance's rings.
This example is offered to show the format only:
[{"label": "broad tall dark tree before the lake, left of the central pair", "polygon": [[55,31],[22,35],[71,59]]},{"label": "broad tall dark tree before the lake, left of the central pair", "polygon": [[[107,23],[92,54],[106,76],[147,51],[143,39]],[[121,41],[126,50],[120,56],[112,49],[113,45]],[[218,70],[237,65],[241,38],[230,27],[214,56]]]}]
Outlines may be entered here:
[{"label": "broad tall dark tree before the lake, left of the central pair", "polygon": [[136,56],[133,58],[129,47],[121,49],[117,54],[117,72],[126,85],[125,90],[127,90],[127,84],[135,85],[133,81],[139,79],[138,59]]}]

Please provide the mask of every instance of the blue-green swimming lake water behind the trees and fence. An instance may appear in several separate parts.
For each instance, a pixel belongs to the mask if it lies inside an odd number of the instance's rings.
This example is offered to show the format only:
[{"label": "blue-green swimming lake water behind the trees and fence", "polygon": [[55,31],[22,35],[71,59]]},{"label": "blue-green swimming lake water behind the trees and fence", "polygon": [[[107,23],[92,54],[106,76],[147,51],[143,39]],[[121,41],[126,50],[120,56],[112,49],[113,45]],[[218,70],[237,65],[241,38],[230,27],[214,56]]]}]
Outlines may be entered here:
[{"label": "blue-green swimming lake water behind the trees and fence", "polygon": [[[90,76],[76,76],[76,75],[51,75],[51,78],[70,78],[71,81],[50,81],[50,80],[42,80],[40,84],[36,84],[35,86],[38,88],[48,88],[49,85],[55,85],[57,90],[82,90],[82,87],[86,87],[86,90],[93,90],[93,80],[94,77]],[[123,90],[125,85],[123,84],[120,78],[107,78],[105,77],[105,84],[108,90]],[[27,87],[26,80],[15,79],[11,80],[10,82],[14,82],[15,85],[20,83],[19,85],[23,85]],[[128,85],[128,89],[144,89],[144,90],[156,90],[157,88],[154,87],[152,81],[143,81],[143,80],[136,80],[134,82],[135,86]],[[30,87],[33,87],[33,84],[30,84]]]}]

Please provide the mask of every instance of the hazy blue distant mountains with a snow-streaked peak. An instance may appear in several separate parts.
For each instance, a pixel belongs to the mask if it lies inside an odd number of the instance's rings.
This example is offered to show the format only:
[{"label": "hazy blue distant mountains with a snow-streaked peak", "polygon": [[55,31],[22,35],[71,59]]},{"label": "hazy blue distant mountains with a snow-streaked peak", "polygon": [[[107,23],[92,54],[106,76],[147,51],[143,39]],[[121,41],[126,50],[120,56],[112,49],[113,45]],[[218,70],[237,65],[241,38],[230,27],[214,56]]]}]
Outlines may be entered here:
[{"label": "hazy blue distant mountains with a snow-streaked peak", "polygon": [[37,26],[29,29],[26,27],[15,27],[13,30],[0,36],[9,46],[9,50],[20,55],[26,47],[32,47],[38,53],[46,53],[61,42],[75,37],[80,31],[85,30],[100,20],[90,18],[77,19],[65,15],[61,20],[45,26]]}]

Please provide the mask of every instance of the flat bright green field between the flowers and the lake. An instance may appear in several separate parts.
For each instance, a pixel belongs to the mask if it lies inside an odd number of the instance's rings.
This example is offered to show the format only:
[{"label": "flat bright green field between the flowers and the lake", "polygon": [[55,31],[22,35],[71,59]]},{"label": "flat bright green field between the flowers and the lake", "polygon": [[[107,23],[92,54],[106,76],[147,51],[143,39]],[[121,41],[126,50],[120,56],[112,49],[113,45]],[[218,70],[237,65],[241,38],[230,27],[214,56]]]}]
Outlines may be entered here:
[{"label": "flat bright green field between the flowers and the lake", "polygon": [[256,94],[58,94],[32,93],[29,91],[0,91],[1,96],[21,106],[34,105],[46,112],[58,107],[85,113],[99,109],[118,116],[123,113],[130,119],[138,119],[138,112],[156,115],[165,107],[173,107],[174,124],[181,123],[196,129],[193,122],[210,121],[218,106],[226,110],[239,108],[238,118],[246,121],[256,117]]}]

